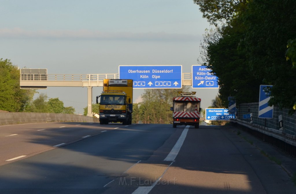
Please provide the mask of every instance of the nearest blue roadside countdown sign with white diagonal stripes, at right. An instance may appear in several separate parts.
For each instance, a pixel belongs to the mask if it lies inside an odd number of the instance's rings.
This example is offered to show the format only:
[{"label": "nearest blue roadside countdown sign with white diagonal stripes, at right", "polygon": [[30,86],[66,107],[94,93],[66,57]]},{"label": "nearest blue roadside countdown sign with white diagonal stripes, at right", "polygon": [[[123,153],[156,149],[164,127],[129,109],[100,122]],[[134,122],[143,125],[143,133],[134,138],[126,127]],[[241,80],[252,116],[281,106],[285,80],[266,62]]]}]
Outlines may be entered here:
[{"label": "nearest blue roadside countdown sign with white diagonal stripes, at right", "polygon": [[268,105],[270,93],[266,92],[267,87],[272,85],[260,85],[258,118],[273,118],[274,106]]}]

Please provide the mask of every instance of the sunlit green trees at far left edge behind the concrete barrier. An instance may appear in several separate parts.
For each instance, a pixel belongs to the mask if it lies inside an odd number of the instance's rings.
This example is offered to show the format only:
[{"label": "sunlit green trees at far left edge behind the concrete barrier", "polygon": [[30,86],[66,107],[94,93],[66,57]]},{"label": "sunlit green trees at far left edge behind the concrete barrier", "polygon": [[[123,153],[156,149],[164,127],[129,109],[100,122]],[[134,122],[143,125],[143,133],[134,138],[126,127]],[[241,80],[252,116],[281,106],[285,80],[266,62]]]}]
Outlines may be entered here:
[{"label": "sunlit green trees at far left edge behind the concrete barrier", "polygon": [[35,90],[20,89],[20,71],[10,60],[0,59],[0,110],[22,112]]}]

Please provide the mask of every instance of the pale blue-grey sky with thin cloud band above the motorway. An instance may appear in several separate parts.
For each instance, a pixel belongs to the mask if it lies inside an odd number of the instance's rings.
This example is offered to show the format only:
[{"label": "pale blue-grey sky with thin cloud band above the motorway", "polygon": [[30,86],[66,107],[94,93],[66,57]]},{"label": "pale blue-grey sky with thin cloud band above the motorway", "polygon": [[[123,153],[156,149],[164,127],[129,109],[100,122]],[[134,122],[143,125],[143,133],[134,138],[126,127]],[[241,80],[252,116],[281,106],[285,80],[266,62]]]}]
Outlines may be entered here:
[{"label": "pale blue-grey sky with thin cloud band above the motorway", "polygon": [[[192,0],[0,0],[0,58],[48,74],[115,74],[119,65],[197,64],[209,24]],[[93,88],[95,96],[102,88]],[[192,89],[210,106],[218,89]],[[38,90],[83,113],[87,89]],[[134,90],[134,101],[143,89]]]}]

